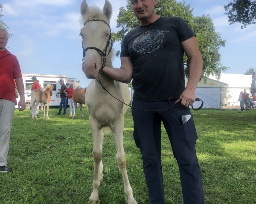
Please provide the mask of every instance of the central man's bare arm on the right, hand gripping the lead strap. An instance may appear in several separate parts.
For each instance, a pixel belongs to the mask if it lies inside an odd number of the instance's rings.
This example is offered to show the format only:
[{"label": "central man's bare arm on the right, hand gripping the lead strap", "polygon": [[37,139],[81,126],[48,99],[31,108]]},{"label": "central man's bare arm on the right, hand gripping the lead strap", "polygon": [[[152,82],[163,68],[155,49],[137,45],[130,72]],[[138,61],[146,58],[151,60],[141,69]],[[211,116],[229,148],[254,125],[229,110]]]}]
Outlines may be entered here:
[{"label": "central man's bare arm on the right, hand gripping the lead strap", "polygon": [[[186,89],[181,94],[181,104],[184,106],[192,105],[195,102],[195,89],[203,70],[203,59],[198,48],[195,37],[181,42],[182,48],[189,59],[189,80]],[[177,101],[180,101],[178,99]]]}]

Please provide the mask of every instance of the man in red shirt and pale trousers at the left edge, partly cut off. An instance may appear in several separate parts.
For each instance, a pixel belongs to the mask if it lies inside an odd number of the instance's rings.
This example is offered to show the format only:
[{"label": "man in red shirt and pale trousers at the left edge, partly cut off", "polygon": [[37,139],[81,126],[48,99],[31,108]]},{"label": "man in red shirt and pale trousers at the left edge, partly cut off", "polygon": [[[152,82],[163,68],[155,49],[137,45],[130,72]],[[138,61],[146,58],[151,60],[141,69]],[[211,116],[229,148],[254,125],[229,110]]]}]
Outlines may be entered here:
[{"label": "man in red shirt and pale trousers at the left edge, partly cut off", "polygon": [[24,85],[17,58],[6,49],[8,32],[0,27],[0,173],[9,172],[6,167],[12,118],[15,110],[15,83],[20,94],[18,108],[26,108]]}]

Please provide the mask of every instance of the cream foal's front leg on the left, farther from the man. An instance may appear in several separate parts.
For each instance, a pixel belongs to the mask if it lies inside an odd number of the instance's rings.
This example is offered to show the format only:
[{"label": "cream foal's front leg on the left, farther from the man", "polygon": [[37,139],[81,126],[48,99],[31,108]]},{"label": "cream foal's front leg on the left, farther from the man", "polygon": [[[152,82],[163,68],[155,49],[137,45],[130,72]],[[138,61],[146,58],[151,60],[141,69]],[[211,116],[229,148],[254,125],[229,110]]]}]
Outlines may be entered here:
[{"label": "cream foal's front leg on the left, farther from the man", "polygon": [[[93,133],[93,160],[94,160],[94,177],[93,177],[93,192],[89,200],[92,204],[96,204],[99,200],[99,170],[102,164],[102,148],[101,148],[101,130],[98,129],[96,121],[89,117],[90,128]],[[103,168],[103,167],[102,167]]]}]

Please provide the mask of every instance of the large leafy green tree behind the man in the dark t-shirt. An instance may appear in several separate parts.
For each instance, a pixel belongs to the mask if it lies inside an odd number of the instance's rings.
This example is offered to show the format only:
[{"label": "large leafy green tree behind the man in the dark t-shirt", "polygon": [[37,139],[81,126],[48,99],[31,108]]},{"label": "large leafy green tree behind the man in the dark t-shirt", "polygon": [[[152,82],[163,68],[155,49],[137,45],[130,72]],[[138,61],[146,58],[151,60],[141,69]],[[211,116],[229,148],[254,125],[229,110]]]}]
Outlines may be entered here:
[{"label": "large leafy green tree behind the man in the dark t-shirt", "polygon": [[[227,67],[221,65],[221,55],[218,52],[218,49],[221,46],[224,47],[226,41],[221,39],[218,32],[215,32],[214,25],[209,16],[193,17],[192,11],[193,8],[190,8],[190,4],[186,5],[185,0],[179,3],[177,3],[175,0],[157,1],[157,15],[182,17],[184,20],[186,20],[187,23],[189,23],[189,25],[197,34],[199,49],[204,59],[202,77],[204,77],[206,80],[210,74],[220,76],[220,73],[226,71]],[[140,24],[140,21],[133,14],[129,0],[126,8],[119,8],[119,14],[116,22],[117,28],[121,28],[121,30],[113,34],[114,41],[122,41],[128,31],[132,30]],[[116,56],[119,56],[119,51],[117,51]],[[188,77],[189,61],[186,55],[184,55],[183,61],[185,74]]]}]

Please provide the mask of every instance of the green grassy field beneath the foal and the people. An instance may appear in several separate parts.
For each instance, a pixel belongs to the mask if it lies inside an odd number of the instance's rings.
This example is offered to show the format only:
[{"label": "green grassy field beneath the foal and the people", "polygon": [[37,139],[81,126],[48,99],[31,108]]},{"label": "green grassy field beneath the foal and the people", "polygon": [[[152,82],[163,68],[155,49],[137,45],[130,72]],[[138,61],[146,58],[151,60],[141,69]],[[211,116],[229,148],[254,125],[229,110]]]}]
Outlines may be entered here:
[{"label": "green grassy field beneath the foal and the people", "polygon": [[[0,174],[0,204],[85,204],[92,190],[93,139],[84,118],[55,115],[49,120],[29,110],[13,119],[8,167]],[[68,111],[67,111],[68,112]],[[256,110],[192,112],[198,131],[197,153],[207,204],[256,204]],[[80,113],[78,113],[80,116]],[[124,147],[128,176],[138,204],[148,204],[140,152],[133,140],[131,109],[125,114]],[[162,130],[163,176],[168,204],[182,204],[177,163]],[[113,135],[103,145],[104,180],[99,204],[124,204],[122,175],[116,164]]]}]

